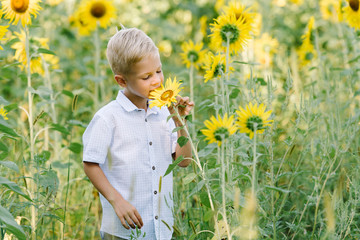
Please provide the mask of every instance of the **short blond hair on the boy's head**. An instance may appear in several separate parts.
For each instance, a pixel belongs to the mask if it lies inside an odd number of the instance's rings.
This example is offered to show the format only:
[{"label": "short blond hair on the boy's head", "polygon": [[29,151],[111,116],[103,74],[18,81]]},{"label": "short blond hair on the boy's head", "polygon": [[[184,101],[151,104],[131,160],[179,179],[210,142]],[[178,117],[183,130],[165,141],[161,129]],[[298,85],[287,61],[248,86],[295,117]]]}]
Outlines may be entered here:
[{"label": "short blond hair on the boy's head", "polygon": [[152,39],[137,28],[121,29],[108,42],[106,56],[115,75],[128,74],[144,57],[159,54]]}]

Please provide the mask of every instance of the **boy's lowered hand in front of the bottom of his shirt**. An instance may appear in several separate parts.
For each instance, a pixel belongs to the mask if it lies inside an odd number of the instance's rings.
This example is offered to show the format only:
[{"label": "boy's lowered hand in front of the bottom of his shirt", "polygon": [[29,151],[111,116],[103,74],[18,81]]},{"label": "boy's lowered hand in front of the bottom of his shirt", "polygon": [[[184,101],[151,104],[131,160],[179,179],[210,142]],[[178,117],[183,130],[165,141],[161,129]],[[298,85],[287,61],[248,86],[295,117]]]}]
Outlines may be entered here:
[{"label": "boy's lowered hand in front of the bottom of his shirt", "polygon": [[124,228],[130,229],[130,226],[132,229],[135,229],[135,225],[138,228],[141,228],[144,225],[139,212],[125,199],[121,198],[120,200],[116,201],[113,204],[113,208]]}]

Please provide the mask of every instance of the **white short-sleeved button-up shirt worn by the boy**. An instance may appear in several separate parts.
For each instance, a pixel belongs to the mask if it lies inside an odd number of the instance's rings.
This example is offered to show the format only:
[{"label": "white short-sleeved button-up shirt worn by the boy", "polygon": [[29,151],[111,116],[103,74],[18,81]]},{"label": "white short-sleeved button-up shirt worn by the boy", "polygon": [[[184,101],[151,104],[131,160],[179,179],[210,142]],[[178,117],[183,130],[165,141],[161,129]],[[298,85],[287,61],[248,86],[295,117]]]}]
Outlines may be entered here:
[{"label": "white short-sleeved button-up shirt worn by the boy", "polygon": [[[116,100],[102,107],[83,135],[83,161],[99,163],[111,185],[139,212],[145,239],[171,239],[173,226],[172,173],[159,179],[175,152],[175,124],[166,107],[137,108],[119,91]],[[100,194],[103,218],[100,231],[128,239],[111,204]]]}]

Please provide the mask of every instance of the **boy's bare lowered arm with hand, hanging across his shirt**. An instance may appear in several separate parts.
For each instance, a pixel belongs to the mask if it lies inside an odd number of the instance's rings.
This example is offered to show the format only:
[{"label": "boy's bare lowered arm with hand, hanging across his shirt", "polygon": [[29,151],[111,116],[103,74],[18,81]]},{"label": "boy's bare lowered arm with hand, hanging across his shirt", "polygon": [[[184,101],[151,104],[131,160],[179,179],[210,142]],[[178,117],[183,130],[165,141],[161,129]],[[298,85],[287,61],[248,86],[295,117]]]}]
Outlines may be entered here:
[{"label": "boy's bare lowered arm with hand, hanging across his shirt", "polygon": [[84,171],[95,188],[110,202],[119,217],[122,225],[130,229],[126,222],[135,228],[134,223],[141,228],[144,224],[136,208],[126,201],[121,194],[110,184],[99,164],[83,162]]}]

